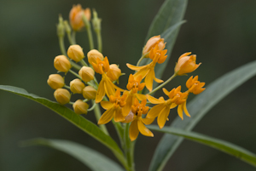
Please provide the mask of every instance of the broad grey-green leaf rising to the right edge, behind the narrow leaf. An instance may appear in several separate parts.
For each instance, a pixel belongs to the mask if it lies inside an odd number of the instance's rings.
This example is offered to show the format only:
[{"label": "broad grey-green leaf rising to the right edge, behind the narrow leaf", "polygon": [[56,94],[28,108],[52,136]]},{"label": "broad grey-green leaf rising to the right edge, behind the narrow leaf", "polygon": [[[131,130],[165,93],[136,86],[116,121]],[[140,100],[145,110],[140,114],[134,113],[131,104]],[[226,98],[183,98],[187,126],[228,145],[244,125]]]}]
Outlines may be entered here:
[{"label": "broad grey-green leaf rising to the right edge, behind the narrow leaf", "polygon": [[[204,92],[196,95],[189,103],[188,111],[191,117],[183,121],[177,117],[173,121],[171,127],[191,130],[201,120],[201,118],[205,116],[207,111],[210,111],[212,107],[218,103],[218,101],[222,100],[226,95],[230,94],[232,90],[255,75],[256,61],[253,61],[247,65],[237,68],[234,71],[230,71],[222,77],[219,77],[216,81],[207,86]],[[165,134],[154,151],[154,157],[149,170],[162,170],[182,141],[183,138],[178,138],[171,134]]]}]

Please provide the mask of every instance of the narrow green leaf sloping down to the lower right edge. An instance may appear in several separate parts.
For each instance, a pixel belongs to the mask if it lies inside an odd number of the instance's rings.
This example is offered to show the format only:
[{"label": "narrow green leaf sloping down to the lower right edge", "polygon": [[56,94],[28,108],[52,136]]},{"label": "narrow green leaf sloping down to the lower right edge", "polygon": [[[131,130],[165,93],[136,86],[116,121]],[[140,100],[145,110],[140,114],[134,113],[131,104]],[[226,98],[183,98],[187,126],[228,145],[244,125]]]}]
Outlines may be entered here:
[{"label": "narrow green leaf sloping down to the lower right edge", "polygon": [[212,137],[209,137],[204,134],[193,133],[189,131],[184,131],[182,129],[177,128],[158,128],[156,125],[148,126],[148,128],[159,131],[167,134],[174,134],[178,136],[182,136],[185,139],[193,140],[195,142],[201,143],[203,145],[211,146],[219,151],[224,151],[225,153],[230,154],[231,156],[237,157],[244,162],[252,164],[256,167],[256,155],[251,151],[247,151],[244,148],[241,148],[238,145],[231,144],[230,142],[224,140],[218,140]]}]

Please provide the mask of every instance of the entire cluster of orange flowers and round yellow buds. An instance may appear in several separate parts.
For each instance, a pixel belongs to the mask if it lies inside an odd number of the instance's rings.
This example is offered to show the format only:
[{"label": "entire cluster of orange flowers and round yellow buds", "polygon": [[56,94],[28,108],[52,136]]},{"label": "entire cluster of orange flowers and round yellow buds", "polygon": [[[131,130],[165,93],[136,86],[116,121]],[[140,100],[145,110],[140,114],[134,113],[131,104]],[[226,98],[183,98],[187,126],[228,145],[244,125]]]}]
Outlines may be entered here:
[{"label": "entire cluster of orange flowers and round yellow buds", "polygon": [[[166,81],[161,80],[155,77],[154,67],[166,61],[166,43],[160,36],[151,37],[143,48],[143,56],[138,60],[137,66],[127,63],[126,66],[135,73],[129,75],[126,88],[119,88],[115,83],[119,83],[119,77],[122,75],[121,69],[117,64],[110,65],[111,57],[104,57],[101,53],[101,41],[98,41],[98,50],[94,48],[93,40],[90,39],[90,15],[90,9],[84,10],[80,5],[73,6],[69,15],[73,35],[71,35],[71,28],[67,21],[63,21],[60,17],[57,26],[60,42],[64,37],[63,32],[66,31],[71,45],[66,51],[61,44],[62,54],[56,56],[54,60],[54,66],[58,73],[49,75],[47,81],[50,88],[55,89],[55,100],[61,105],[73,105],[73,111],[77,114],[87,114],[88,111],[94,110],[97,104],[101,104],[105,111],[98,119],[98,124],[106,124],[112,120],[121,124],[130,123],[131,141],[136,140],[139,133],[153,137],[154,134],[145,125],[153,123],[157,118],[159,127],[163,128],[168,121],[170,111],[176,107],[177,114],[181,119],[183,119],[183,113],[190,117],[186,107],[189,94],[200,94],[205,89],[203,88],[205,83],[198,81],[198,76],[192,76],[186,83],[187,90],[185,92],[182,92],[181,86],[177,88],[164,88],[164,86],[174,77],[195,71],[201,65],[201,63],[196,64],[196,55],[190,52],[182,54],[177,60],[173,75]],[[97,18],[96,11],[93,15],[94,31],[101,40],[101,20]],[[75,43],[74,36],[76,31],[83,31],[84,28],[88,32],[90,41],[90,51],[86,53],[86,57],[83,48]],[[151,62],[148,65],[139,66],[140,61],[144,58],[150,59]],[[75,77],[69,81],[69,84],[65,83],[67,73],[72,73]],[[99,82],[96,80],[95,74],[101,75]],[[160,83],[160,85],[154,88],[154,82]],[[148,94],[142,94],[144,88],[148,89]],[[166,98],[157,98],[152,95],[160,89],[166,94]],[[74,102],[70,101],[73,94],[81,94],[80,99]],[[148,105],[151,105],[151,109]]]}]

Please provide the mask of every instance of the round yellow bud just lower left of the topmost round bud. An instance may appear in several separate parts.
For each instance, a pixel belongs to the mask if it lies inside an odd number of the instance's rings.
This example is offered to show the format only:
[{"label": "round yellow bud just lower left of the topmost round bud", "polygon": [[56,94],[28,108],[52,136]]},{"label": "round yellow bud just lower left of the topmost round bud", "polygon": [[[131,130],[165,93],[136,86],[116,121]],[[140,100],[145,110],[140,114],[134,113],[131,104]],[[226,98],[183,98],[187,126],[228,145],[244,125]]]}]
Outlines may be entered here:
[{"label": "round yellow bud just lower left of the topmost round bud", "polygon": [[71,64],[67,57],[64,55],[58,55],[55,57],[54,66],[57,71],[67,72],[71,68]]}]

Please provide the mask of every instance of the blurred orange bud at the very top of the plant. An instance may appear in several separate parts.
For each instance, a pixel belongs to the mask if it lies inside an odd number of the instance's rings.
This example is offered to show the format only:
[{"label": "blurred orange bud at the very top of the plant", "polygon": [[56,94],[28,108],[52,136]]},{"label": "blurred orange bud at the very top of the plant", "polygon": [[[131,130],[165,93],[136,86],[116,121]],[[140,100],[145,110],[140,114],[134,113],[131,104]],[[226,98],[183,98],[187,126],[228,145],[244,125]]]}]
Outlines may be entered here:
[{"label": "blurred orange bud at the very top of the plant", "polygon": [[87,20],[90,20],[90,9],[82,9],[80,4],[73,5],[69,13],[69,21],[74,31],[80,31],[84,27],[83,13]]}]

